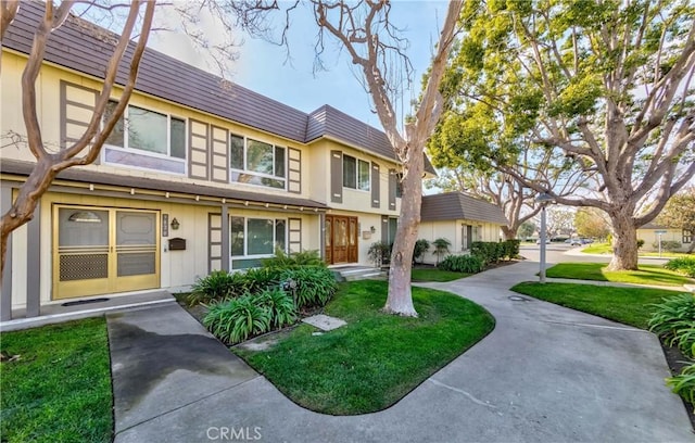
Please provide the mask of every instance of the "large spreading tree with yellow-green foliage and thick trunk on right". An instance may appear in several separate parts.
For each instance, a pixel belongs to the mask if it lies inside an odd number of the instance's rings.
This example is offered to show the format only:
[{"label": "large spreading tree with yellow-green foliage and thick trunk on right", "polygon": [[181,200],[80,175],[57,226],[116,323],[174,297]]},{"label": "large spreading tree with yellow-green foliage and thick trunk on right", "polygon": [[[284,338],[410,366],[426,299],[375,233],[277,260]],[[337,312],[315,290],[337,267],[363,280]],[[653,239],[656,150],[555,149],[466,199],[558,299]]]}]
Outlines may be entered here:
[{"label": "large spreading tree with yellow-green foliage and thick trunk on right", "polygon": [[[442,156],[603,210],[616,233],[610,267],[636,268],[636,227],[695,174],[695,4],[471,0],[463,17]],[[564,197],[520,174],[529,149],[554,170],[580,172],[586,190]]]}]

